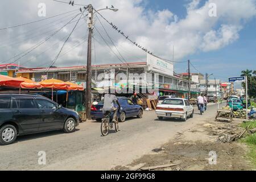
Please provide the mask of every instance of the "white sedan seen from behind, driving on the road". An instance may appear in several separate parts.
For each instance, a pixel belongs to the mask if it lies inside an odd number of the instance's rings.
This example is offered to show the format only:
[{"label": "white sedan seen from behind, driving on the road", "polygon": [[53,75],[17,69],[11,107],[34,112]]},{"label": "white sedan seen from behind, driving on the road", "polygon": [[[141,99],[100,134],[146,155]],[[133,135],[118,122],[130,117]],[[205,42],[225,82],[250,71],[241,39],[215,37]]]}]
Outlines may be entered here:
[{"label": "white sedan seen from behind, driving on the road", "polygon": [[159,119],[180,118],[187,121],[187,117],[193,118],[194,109],[184,98],[166,98],[158,104],[155,111]]}]

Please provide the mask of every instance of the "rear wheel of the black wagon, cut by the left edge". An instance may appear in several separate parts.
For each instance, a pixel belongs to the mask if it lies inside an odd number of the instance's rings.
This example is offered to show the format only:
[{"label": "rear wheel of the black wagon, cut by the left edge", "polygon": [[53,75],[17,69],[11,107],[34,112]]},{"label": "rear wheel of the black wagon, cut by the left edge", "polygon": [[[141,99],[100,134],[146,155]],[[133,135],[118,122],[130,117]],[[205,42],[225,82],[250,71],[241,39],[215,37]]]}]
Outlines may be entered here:
[{"label": "rear wheel of the black wagon, cut by the left edge", "polygon": [[0,129],[0,144],[6,145],[15,142],[17,130],[13,125],[5,125]]}]

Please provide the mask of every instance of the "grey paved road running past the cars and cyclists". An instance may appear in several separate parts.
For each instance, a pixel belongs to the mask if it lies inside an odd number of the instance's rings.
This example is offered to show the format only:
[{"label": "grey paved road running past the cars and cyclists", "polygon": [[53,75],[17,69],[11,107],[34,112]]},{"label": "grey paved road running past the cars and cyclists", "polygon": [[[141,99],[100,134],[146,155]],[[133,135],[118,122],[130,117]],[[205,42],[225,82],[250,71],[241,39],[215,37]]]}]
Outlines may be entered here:
[{"label": "grey paved road running past the cars and cyclists", "polygon": [[[101,137],[100,123],[81,123],[77,131],[64,134],[53,131],[18,137],[9,146],[0,146],[0,170],[108,170],[131,163],[160,144],[168,142],[177,132],[213,119],[217,105],[207,113],[195,115],[187,122],[167,119],[159,121],[154,111],[144,111],[143,118],[119,123],[118,133]],[[46,165],[38,164],[38,152],[46,152]]]}]

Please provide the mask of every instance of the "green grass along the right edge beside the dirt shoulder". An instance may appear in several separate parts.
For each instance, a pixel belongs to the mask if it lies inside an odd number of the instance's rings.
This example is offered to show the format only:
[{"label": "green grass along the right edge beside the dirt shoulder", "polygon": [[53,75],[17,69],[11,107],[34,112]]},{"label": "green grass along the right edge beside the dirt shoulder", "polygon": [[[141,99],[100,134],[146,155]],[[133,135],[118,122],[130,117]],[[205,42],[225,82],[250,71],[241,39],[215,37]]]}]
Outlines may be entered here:
[{"label": "green grass along the right edge beside the dirt shoulder", "polygon": [[[250,125],[249,129],[254,129],[256,127],[256,121],[242,123],[241,125],[244,128]],[[251,160],[256,167],[256,134],[248,135],[246,138],[242,139],[242,142],[249,146],[250,151],[247,153],[247,158]]]}]

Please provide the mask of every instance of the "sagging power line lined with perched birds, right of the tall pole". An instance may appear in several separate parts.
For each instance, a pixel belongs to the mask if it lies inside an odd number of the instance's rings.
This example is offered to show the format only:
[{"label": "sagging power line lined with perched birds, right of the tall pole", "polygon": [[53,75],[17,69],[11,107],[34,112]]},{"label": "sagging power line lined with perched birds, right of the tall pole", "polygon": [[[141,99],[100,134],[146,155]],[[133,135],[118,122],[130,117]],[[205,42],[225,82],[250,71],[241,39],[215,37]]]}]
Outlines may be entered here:
[{"label": "sagging power line lined with perched birds, right of the tall pole", "polygon": [[[97,10],[96,10],[96,12],[98,13]],[[123,37],[125,37],[126,40],[129,40],[131,43],[133,43],[136,47],[142,49],[142,51],[147,52],[147,53],[149,53],[149,54],[152,55],[152,56],[158,57],[159,59],[162,59],[162,60],[165,60],[165,61],[168,61],[168,62],[171,62],[171,63],[185,63],[185,62],[187,62],[187,61],[173,61],[173,60],[171,61],[171,60],[167,60],[167,59],[164,59],[164,58],[162,58],[162,57],[159,57],[159,56],[154,55],[154,53],[148,51],[148,49],[142,47],[142,46],[139,45],[138,43],[136,43],[136,42],[134,42],[133,40],[131,40],[131,39],[129,38],[129,36],[125,35],[124,32],[122,32],[121,30],[118,30],[118,27],[117,27],[117,26],[115,26],[113,23],[110,23],[109,20],[107,20],[107,19],[106,19],[104,16],[102,16],[100,13],[98,13],[98,14],[99,14],[106,22],[108,22],[108,23],[110,24],[110,26],[112,26],[115,31],[117,31],[119,34],[121,34]]]}]

